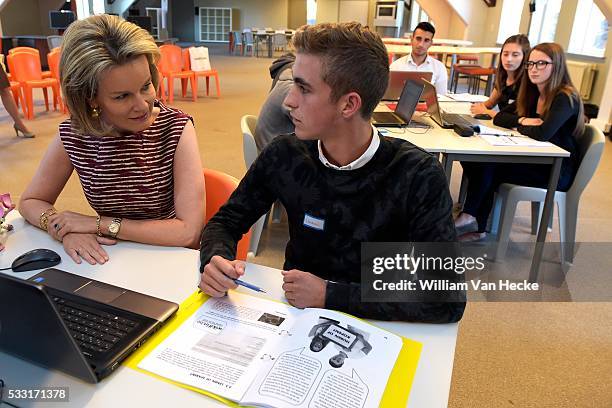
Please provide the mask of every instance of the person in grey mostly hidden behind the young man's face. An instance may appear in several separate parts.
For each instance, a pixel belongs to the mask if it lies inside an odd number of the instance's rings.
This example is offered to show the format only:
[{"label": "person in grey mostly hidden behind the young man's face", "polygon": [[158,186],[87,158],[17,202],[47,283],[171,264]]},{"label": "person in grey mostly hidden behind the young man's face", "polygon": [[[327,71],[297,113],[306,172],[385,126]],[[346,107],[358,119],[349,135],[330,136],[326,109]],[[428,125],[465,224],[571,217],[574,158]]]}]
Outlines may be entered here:
[{"label": "person in grey mostly hidden behind the young man's face", "polygon": [[293,133],[295,126],[287,107],[283,105],[289,89],[293,86],[293,62],[295,55],[285,54],[270,66],[272,89],[264,102],[255,126],[255,143],[260,152],[278,135]]}]

